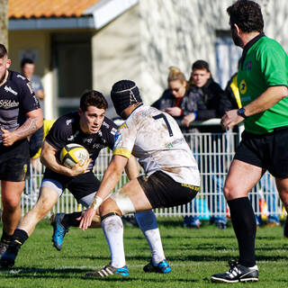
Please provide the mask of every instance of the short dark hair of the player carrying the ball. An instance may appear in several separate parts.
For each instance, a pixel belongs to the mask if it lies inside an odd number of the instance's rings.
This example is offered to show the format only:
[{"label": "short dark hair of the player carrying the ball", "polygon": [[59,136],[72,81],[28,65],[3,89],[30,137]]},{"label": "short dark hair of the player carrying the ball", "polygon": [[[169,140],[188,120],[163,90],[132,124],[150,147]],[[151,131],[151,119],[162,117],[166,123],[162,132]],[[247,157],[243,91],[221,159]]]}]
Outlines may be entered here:
[{"label": "short dark hair of the player carrying the ball", "polygon": [[108,108],[108,103],[102,93],[96,90],[89,90],[81,96],[80,108],[85,112],[89,106],[95,106],[98,109],[106,110]]}]

